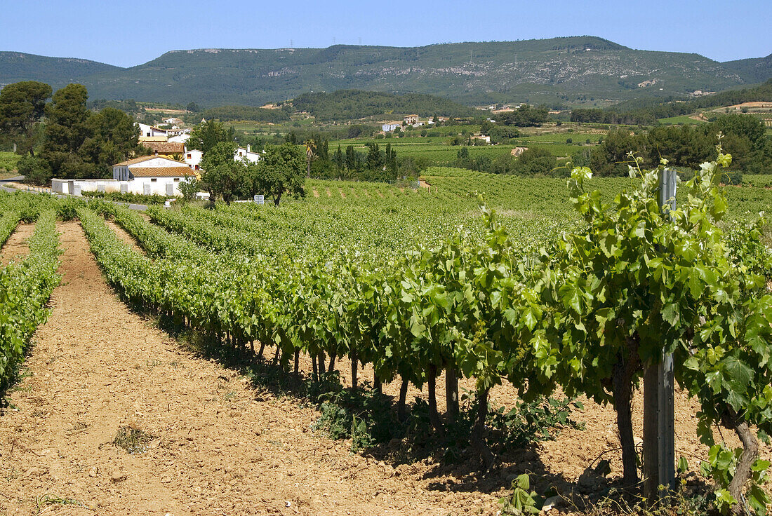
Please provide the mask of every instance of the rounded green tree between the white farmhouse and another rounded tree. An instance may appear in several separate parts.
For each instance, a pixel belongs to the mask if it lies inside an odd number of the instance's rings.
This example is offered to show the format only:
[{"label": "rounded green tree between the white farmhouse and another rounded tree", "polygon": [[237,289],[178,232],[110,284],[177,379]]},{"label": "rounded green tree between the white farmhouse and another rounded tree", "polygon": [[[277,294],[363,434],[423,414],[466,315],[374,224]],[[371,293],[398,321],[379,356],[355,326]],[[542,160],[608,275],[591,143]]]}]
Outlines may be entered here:
[{"label": "rounded green tree between the white farmhouse and another rounded tree", "polygon": [[236,144],[219,142],[201,158],[201,179],[209,191],[209,200],[214,202],[218,195],[230,204],[233,197],[249,191],[249,168],[243,160],[234,160]]}]

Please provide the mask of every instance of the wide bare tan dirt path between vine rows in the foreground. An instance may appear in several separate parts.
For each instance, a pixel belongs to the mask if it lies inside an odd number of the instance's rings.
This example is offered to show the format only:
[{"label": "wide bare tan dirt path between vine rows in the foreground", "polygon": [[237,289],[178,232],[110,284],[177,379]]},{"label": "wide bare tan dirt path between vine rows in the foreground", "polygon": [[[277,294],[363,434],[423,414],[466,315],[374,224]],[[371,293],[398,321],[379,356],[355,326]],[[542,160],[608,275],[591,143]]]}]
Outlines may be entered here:
[{"label": "wide bare tan dirt path between vine rows in the foreground", "polygon": [[[350,454],[310,430],[313,410],[182,351],[106,285],[79,224],[59,231],[63,282],[0,418],[0,513],[493,513],[493,496]],[[154,436],[144,453],[113,445],[124,427]]]}]

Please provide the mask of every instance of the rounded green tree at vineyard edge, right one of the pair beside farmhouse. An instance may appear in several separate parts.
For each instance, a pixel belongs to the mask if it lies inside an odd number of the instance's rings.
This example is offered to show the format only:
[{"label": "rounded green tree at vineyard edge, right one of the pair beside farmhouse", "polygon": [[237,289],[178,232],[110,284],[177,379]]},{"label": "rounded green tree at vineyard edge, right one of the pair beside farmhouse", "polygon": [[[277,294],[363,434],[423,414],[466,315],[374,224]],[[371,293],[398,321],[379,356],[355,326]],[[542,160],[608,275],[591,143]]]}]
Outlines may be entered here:
[{"label": "rounded green tree at vineyard edge, right one of the pair beside farmhouse", "polygon": [[273,197],[279,206],[283,194],[305,197],[306,156],[301,147],[292,143],[266,145],[262,159],[249,166],[252,191]]}]

